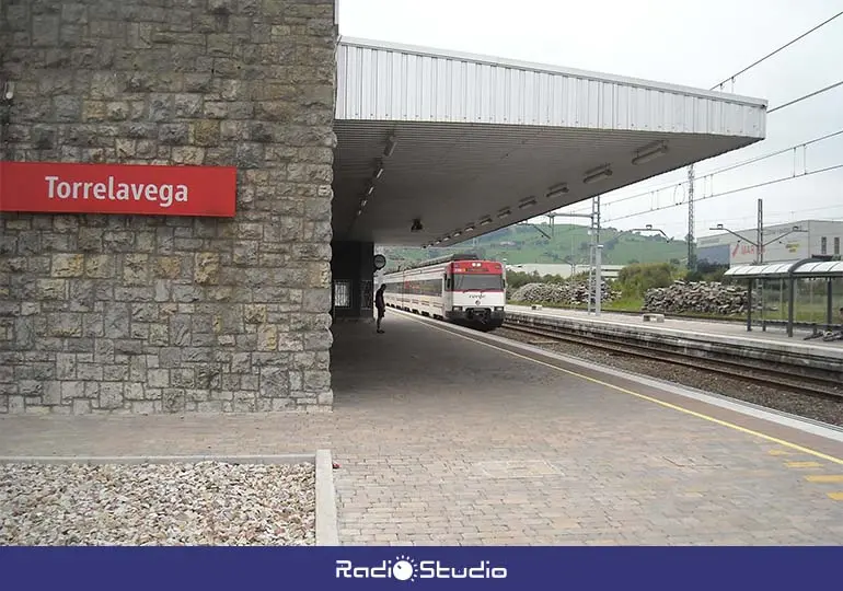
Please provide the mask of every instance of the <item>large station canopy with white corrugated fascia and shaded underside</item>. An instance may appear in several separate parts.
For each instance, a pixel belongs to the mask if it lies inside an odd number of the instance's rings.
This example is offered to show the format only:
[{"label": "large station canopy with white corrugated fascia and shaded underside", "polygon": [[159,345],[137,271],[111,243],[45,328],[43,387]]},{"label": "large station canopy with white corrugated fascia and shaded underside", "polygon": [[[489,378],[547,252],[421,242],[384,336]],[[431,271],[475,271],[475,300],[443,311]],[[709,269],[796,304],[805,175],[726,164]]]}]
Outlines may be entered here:
[{"label": "large station canopy with white corrugated fascia and shaded underside", "polygon": [[342,39],[334,237],[455,244],[757,142],[765,111],[757,99]]}]

